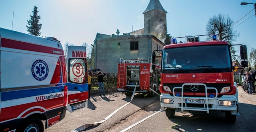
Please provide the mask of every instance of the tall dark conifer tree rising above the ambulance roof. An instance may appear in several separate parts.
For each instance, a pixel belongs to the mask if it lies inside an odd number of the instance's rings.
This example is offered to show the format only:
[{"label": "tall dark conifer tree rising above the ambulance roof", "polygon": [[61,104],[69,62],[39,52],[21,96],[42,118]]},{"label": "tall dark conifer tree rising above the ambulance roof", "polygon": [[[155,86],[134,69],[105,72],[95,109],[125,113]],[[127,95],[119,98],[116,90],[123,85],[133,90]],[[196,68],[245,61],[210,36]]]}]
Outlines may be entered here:
[{"label": "tall dark conifer tree rising above the ambulance roof", "polygon": [[28,20],[28,25],[26,25],[27,27],[27,31],[29,32],[29,34],[31,35],[35,35],[35,36],[40,36],[41,35],[41,28],[42,28],[42,24],[39,23],[39,19],[41,19],[41,16],[38,15],[38,7],[34,6],[33,9],[33,16],[30,15],[30,20]]}]

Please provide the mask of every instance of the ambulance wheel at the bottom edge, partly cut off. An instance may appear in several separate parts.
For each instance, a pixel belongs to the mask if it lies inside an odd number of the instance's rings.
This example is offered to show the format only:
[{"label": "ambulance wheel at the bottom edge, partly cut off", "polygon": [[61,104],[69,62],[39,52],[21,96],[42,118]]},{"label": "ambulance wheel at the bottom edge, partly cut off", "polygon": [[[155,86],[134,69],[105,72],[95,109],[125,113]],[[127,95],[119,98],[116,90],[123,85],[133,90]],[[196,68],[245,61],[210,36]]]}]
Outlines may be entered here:
[{"label": "ambulance wheel at the bottom edge, partly cut off", "polygon": [[44,124],[39,119],[29,119],[21,124],[17,132],[44,132]]}]

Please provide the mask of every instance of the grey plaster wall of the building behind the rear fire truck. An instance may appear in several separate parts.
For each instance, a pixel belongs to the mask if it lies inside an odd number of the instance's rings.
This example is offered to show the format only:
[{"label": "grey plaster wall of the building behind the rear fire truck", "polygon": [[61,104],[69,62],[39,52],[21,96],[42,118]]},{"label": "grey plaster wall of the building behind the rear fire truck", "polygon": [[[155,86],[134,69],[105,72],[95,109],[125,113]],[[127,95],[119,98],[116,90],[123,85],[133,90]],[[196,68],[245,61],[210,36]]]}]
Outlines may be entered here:
[{"label": "grey plaster wall of the building behind the rear fire truck", "polygon": [[[141,57],[144,62],[149,62],[152,49],[156,49],[156,45],[161,45],[159,42],[149,39],[152,36],[122,35],[96,40],[96,67],[103,72],[117,73],[117,63],[120,58],[137,60]],[[138,41],[138,50],[130,50],[130,42],[132,41]]]}]

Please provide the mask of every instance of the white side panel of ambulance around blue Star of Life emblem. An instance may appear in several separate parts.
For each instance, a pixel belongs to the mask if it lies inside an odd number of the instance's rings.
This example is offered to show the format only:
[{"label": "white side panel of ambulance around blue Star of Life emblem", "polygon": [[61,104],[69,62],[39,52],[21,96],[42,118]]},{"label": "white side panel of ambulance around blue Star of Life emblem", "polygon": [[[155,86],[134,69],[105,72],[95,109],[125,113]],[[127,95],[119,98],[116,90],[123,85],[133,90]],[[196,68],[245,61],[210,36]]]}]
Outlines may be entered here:
[{"label": "white side panel of ambulance around blue Star of Life emblem", "polygon": [[[1,88],[15,88],[25,86],[47,85],[50,84],[59,55],[33,52],[20,49],[2,48],[2,83]],[[35,79],[32,74],[32,67],[37,60],[43,60],[47,67],[42,72],[42,75],[47,75],[44,80]],[[4,69],[4,70],[3,70]],[[38,71],[36,71],[38,70]],[[34,72],[40,72],[40,69],[35,69]],[[29,82],[28,82],[29,81]]]}]

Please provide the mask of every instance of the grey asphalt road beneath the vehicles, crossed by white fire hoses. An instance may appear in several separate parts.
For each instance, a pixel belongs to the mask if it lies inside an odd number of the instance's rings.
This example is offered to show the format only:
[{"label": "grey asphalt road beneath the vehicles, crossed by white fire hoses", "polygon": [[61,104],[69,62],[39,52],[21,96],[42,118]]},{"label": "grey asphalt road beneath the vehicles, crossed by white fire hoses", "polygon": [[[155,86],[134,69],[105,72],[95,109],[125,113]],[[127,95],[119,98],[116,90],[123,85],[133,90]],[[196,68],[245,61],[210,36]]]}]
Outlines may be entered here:
[{"label": "grey asphalt road beneath the vehicles, crossed by white fire hoses", "polygon": [[[238,93],[242,93],[241,90]],[[244,93],[243,93],[244,94]],[[92,100],[92,98],[95,98]],[[66,117],[45,132],[71,132],[84,124],[99,122],[119,107],[130,102],[125,95],[109,94],[106,97],[92,97],[88,108],[73,113],[67,112]],[[100,100],[100,101],[97,101]],[[130,104],[111,116],[105,122],[85,129],[87,132],[119,132],[141,121],[160,110],[159,96],[144,97],[136,94]],[[146,119],[127,132],[256,132],[256,105],[239,95],[239,113],[235,124],[225,122],[225,114],[219,111],[181,112],[176,110],[174,118],[168,118],[165,112]]]}]

